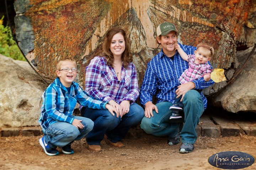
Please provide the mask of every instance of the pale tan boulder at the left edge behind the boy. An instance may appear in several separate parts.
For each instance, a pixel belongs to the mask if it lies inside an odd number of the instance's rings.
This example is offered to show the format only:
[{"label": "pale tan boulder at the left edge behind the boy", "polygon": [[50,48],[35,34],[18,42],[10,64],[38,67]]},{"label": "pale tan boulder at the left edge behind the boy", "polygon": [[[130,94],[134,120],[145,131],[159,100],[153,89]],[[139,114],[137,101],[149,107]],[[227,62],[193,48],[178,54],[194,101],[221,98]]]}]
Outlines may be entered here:
[{"label": "pale tan boulder at the left edge behind the boy", "polygon": [[[27,62],[0,55],[0,63],[0,128],[38,126],[39,103],[47,85]],[[53,81],[42,76],[47,83]]]}]

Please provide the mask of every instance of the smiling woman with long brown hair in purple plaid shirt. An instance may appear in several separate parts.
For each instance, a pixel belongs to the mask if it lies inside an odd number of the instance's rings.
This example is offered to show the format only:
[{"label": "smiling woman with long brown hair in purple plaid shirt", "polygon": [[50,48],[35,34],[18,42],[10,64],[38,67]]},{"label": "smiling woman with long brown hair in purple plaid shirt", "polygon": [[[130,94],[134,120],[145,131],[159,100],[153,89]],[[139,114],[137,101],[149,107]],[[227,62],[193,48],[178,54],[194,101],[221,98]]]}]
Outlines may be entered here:
[{"label": "smiling woman with long brown hair in purple plaid shirt", "polygon": [[139,124],[144,117],[143,108],[134,103],[139,96],[138,80],[124,30],[108,30],[98,54],[100,56],[93,58],[86,67],[85,91],[116,107],[117,113],[81,108],[81,115],[94,121],[94,128],[86,137],[90,151],[101,151],[100,142],[104,137],[112,147],[124,147],[120,141],[130,127]]}]

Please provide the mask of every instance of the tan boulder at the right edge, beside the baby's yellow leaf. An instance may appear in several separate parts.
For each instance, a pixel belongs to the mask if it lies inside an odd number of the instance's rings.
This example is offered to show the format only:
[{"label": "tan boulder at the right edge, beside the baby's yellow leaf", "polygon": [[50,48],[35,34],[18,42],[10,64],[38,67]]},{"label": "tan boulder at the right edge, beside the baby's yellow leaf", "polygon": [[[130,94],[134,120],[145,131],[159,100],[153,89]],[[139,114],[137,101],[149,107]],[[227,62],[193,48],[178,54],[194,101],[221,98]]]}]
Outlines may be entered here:
[{"label": "tan boulder at the right edge, beside the baby's yellow leaf", "polygon": [[[242,68],[253,47],[237,52],[239,67]],[[233,83],[209,99],[209,104],[223,107],[228,112],[256,112],[256,52],[242,68]]]}]

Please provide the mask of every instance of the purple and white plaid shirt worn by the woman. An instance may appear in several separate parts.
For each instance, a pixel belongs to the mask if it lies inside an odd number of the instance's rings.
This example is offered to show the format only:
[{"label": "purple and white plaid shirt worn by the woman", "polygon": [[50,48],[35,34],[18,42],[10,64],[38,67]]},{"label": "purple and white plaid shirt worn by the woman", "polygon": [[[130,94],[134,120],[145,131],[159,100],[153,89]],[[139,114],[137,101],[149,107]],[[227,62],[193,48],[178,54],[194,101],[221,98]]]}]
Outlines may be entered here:
[{"label": "purple and white plaid shirt worn by the woman", "polygon": [[105,57],[94,57],[86,67],[85,91],[97,100],[120,104],[131,100],[133,104],[139,96],[137,73],[133,63],[121,70],[118,82],[114,68],[106,64]]}]

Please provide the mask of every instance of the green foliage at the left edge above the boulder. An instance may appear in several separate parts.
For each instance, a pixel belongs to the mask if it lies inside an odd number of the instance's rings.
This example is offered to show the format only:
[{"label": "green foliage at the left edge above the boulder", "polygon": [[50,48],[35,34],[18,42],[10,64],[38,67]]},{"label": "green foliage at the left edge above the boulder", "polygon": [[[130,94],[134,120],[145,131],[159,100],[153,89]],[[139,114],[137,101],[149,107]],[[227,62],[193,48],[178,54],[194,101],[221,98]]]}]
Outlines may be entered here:
[{"label": "green foliage at the left edge above the boulder", "polygon": [[3,19],[4,16],[0,19],[0,54],[11,57],[14,60],[25,61],[25,58],[12,37],[10,27],[2,25]]}]

